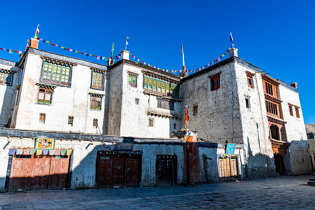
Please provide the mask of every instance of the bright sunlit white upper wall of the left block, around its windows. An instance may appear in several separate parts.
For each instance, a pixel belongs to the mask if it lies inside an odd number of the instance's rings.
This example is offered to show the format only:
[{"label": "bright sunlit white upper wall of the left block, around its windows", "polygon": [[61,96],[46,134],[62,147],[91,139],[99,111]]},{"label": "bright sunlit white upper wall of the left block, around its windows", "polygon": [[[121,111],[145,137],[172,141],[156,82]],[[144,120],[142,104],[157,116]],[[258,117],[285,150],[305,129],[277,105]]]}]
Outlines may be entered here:
[{"label": "bright sunlit white upper wall of the left block, around its windows", "polygon": [[[98,119],[100,131],[107,131],[108,72],[105,73],[105,90],[90,89],[91,69],[78,64],[72,67],[71,86],[57,86],[53,90],[51,104],[38,104],[37,94],[40,82],[43,60],[39,55],[28,53],[25,62],[23,78],[20,88],[18,105],[14,110],[14,120],[11,128],[45,130],[45,131],[72,131],[96,133],[93,128],[93,119]],[[54,84],[51,84],[54,85]],[[55,86],[55,85],[54,85]],[[89,93],[105,95],[101,100],[101,110],[90,109]],[[39,114],[46,114],[45,123],[39,122]],[[73,126],[68,125],[68,116],[73,116]],[[104,130],[104,132],[103,132]],[[100,133],[98,131],[98,133]]]}]

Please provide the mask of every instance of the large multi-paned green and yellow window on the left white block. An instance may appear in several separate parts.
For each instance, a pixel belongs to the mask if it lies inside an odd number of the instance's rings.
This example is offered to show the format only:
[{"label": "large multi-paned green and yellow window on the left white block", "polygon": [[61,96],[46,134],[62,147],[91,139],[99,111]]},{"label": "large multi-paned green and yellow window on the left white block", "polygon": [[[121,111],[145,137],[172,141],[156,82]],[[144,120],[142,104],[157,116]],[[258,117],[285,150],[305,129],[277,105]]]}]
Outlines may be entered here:
[{"label": "large multi-paned green and yellow window on the left white block", "polygon": [[42,80],[54,84],[69,85],[70,67],[44,63]]}]

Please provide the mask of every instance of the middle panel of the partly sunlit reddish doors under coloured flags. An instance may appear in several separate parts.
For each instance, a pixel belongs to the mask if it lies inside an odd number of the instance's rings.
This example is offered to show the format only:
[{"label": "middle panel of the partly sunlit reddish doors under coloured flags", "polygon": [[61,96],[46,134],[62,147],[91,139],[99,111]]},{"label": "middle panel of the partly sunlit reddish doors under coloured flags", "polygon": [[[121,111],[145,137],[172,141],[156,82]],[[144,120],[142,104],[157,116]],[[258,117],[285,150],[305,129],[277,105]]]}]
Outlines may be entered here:
[{"label": "middle panel of the partly sunlit reddish doors under coloured flags", "polygon": [[51,155],[34,155],[31,190],[48,189]]}]

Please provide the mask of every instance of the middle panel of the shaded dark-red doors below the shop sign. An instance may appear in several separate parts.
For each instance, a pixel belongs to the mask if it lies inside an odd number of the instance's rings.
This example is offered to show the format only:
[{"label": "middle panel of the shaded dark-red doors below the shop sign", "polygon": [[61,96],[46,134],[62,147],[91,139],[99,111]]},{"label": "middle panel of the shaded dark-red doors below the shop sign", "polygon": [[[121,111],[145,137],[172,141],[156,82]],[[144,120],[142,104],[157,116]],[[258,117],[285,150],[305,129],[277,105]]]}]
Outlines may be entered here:
[{"label": "middle panel of the shaded dark-red doors below the shop sign", "polygon": [[125,157],[112,158],[112,185],[125,185]]}]

